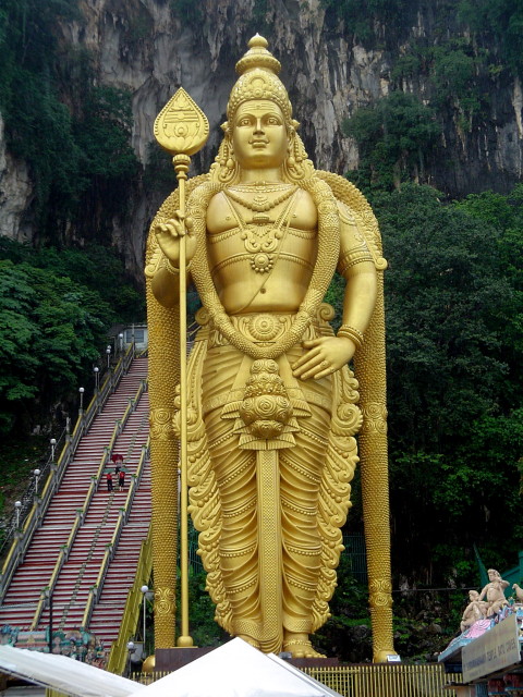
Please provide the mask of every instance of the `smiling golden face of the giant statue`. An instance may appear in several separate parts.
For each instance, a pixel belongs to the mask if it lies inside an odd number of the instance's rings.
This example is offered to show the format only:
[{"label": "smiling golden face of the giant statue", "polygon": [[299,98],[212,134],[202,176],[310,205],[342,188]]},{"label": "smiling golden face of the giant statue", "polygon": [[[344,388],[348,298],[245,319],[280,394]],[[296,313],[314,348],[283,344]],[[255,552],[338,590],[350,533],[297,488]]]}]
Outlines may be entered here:
[{"label": "smiling golden face of the giant statue", "polygon": [[242,169],[280,167],[289,137],[278,105],[256,99],[241,105],[234,117],[232,143]]}]

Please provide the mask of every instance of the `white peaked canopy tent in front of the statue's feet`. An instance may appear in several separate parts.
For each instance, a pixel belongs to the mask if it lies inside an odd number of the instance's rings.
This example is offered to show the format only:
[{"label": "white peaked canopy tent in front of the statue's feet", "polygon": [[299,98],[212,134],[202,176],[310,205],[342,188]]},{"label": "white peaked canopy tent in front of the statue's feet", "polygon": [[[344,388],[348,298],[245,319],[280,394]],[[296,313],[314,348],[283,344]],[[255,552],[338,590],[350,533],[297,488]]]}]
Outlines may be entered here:
[{"label": "white peaked canopy tent in front of the statue's feet", "polygon": [[[138,697],[136,692],[132,697]],[[139,690],[139,697],[340,697],[277,656],[235,638]]]}]

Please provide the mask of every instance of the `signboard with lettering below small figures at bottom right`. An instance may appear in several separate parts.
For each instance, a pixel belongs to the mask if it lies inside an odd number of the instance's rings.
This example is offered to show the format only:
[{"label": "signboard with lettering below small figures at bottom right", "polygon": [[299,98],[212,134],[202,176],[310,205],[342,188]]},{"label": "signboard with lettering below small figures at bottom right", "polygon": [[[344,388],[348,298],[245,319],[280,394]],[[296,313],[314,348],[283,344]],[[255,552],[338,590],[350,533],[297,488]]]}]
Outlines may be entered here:
[{"label": "signboard with lettering below small figures at bottom right", "polygon": [[463,682],[490,675],[520,662],[519,627],[511,614],[463,647]]}]

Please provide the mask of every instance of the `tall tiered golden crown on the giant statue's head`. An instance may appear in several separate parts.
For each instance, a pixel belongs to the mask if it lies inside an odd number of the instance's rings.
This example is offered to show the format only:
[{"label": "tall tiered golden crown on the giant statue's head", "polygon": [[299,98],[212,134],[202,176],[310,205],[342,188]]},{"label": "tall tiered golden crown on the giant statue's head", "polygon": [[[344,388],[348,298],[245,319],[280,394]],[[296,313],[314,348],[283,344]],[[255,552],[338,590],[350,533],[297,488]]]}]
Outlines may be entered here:
[{"label": "tall tiered golden crown on the giant statue's head", "polygon": [[267,39],[259,34],[248,41],[248,51],[236,63],[240,77],[231,90],[227,118],[232,122],[241,103],[251,99],[268,99],[277,103],[285,120],[291,122],[292,107],[287,89],[278,77],[281,63],[267,50]]}]

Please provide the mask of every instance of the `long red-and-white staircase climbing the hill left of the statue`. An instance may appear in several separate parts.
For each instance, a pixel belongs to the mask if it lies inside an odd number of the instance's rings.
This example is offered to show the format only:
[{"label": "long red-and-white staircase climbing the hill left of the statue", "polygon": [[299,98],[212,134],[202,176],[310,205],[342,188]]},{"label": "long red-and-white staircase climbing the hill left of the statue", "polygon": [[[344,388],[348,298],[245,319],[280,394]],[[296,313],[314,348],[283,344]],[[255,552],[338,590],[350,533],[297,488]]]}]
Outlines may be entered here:
[{"label": "long red-and-white staircase climbing the hill left of the statue", "polygon": [[[134,358],[126,375],[102,411],[95,417],[81,439],[74,458],[69,463],[59,489],[48,506],[42,524],[35,531],[23,562],[14,573],[0,607],[0,626],[9,624],[20,629],[41,632],[50,625],[53,632],[78,629],[93,587],[98,583],[97,598],[90,622],[84,628],[101,640],[106,650],[117,638],[127,591],[133,583],[142,541],[150,523],[150,465],[145,461],[139,484],[134,487],[132,506],[124,512],[132,476],[148,438],[148,394],[143,391],[127,420],[119,432],[113,453],[123,455],[126,469],[125,487],[107,490],[102,476],[87,510],[83,511],[87,492],[106,453],[115,423],[122,419],[130,400],[138,392],[147,377],[147,358]],[[112,464],[112,463],[111,463]],[[112,551],[107,572],[99,578],[100,567],[118,521],[126,516],[118,545]],[[76,523],[81,518],[81,524]],[[74,535],[74,527],[77,531]],[[60,565],[63,546],[69,554]],[[62,552],[63,555],[63,552]],[[54,572],[54,578],[53,578]],[[50,586],[51,606],[38,611],[41,591]],[[39,615],[39,616],[38,616]]]}]

